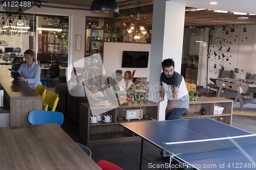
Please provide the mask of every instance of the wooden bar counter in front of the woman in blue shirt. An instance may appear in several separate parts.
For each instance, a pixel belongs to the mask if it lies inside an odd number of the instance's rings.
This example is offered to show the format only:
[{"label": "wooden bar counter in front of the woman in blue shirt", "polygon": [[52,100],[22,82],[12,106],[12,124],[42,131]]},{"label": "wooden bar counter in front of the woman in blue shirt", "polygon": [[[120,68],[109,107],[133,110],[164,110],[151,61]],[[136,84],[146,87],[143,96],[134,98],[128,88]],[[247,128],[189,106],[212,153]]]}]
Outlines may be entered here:
[{"label": "wooden bar counter in front of the woman in blue shirt", "polygon": [[10,126],[30,125],[28,114],[41,109],[41,96],[26,83],[14,81],[4,66],[0,66],[0,89],[4,90],[5,107],[10,108]]}]

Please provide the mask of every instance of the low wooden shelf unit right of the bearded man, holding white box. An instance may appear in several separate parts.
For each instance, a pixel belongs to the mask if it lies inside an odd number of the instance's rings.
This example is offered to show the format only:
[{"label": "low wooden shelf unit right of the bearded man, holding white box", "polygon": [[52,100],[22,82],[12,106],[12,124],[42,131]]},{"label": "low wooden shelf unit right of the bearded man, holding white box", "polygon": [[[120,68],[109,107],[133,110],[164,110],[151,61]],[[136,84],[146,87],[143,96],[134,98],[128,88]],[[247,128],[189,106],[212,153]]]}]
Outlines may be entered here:
[{"label": "low wooden shelf unit right of the bearded man, holding white box", "polygon": [[[232,122],[232,111],[233,101],[224,98],[198,98],[198,101],[189,101],[189,105],[195,108],[195,112],[191,115],[182,115],[181,119],[184,118],[200,118],[209,117],[220,121],[222,117],[222,123],[231,125]],[[224,107],[222,114],[214,114],[214,106]],[[201,114],[200,111],[205,108],[206,114]]]}]

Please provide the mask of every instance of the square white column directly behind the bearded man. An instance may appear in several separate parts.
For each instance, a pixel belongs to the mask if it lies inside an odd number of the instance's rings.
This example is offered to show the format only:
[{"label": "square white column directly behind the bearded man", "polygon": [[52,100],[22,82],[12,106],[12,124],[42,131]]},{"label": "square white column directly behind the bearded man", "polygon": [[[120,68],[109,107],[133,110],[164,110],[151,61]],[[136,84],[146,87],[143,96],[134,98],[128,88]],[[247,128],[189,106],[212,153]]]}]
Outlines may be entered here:
[{"label": "square white column directly behind the bearded man", "polygon": [[[173,58],[175,71],[181,71],[185,4],[155,1],[153,9],[149,97],[158,102],[161,62]],[[167,99],[160,104],[159,120],[165,119]]]}]

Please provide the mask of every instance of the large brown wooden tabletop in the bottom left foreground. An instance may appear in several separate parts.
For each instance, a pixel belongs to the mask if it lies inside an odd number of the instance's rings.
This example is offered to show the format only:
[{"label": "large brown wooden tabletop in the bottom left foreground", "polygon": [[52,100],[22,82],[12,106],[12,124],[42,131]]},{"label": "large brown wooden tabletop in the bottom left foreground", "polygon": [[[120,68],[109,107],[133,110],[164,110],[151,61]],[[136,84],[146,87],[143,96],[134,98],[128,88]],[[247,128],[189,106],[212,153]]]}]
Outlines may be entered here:
[{"label": "large brown wooden tabletop in the bottom left foreground", "polygon": [[1,169],[101,168],[57,124],[0,128]]}]

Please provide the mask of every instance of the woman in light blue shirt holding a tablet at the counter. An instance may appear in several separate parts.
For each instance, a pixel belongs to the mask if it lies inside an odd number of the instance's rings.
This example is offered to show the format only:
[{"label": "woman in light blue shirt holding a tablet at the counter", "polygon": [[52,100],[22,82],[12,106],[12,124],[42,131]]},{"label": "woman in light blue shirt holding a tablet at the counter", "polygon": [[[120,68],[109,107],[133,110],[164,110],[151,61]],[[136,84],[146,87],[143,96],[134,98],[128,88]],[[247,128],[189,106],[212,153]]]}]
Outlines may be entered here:
[{"label": "woman in light blue shirt holding a tablet at the counter", "polygon": [[32,50],[26,50],[24,52],[24,58],[26,63],[20,65],[17,72],[22,77],[17,77],[20,82],[26,82],[26,84],[35,89],[37,85],[42,85],[40,82],[41,68],[35,63],[34,52]]}]

